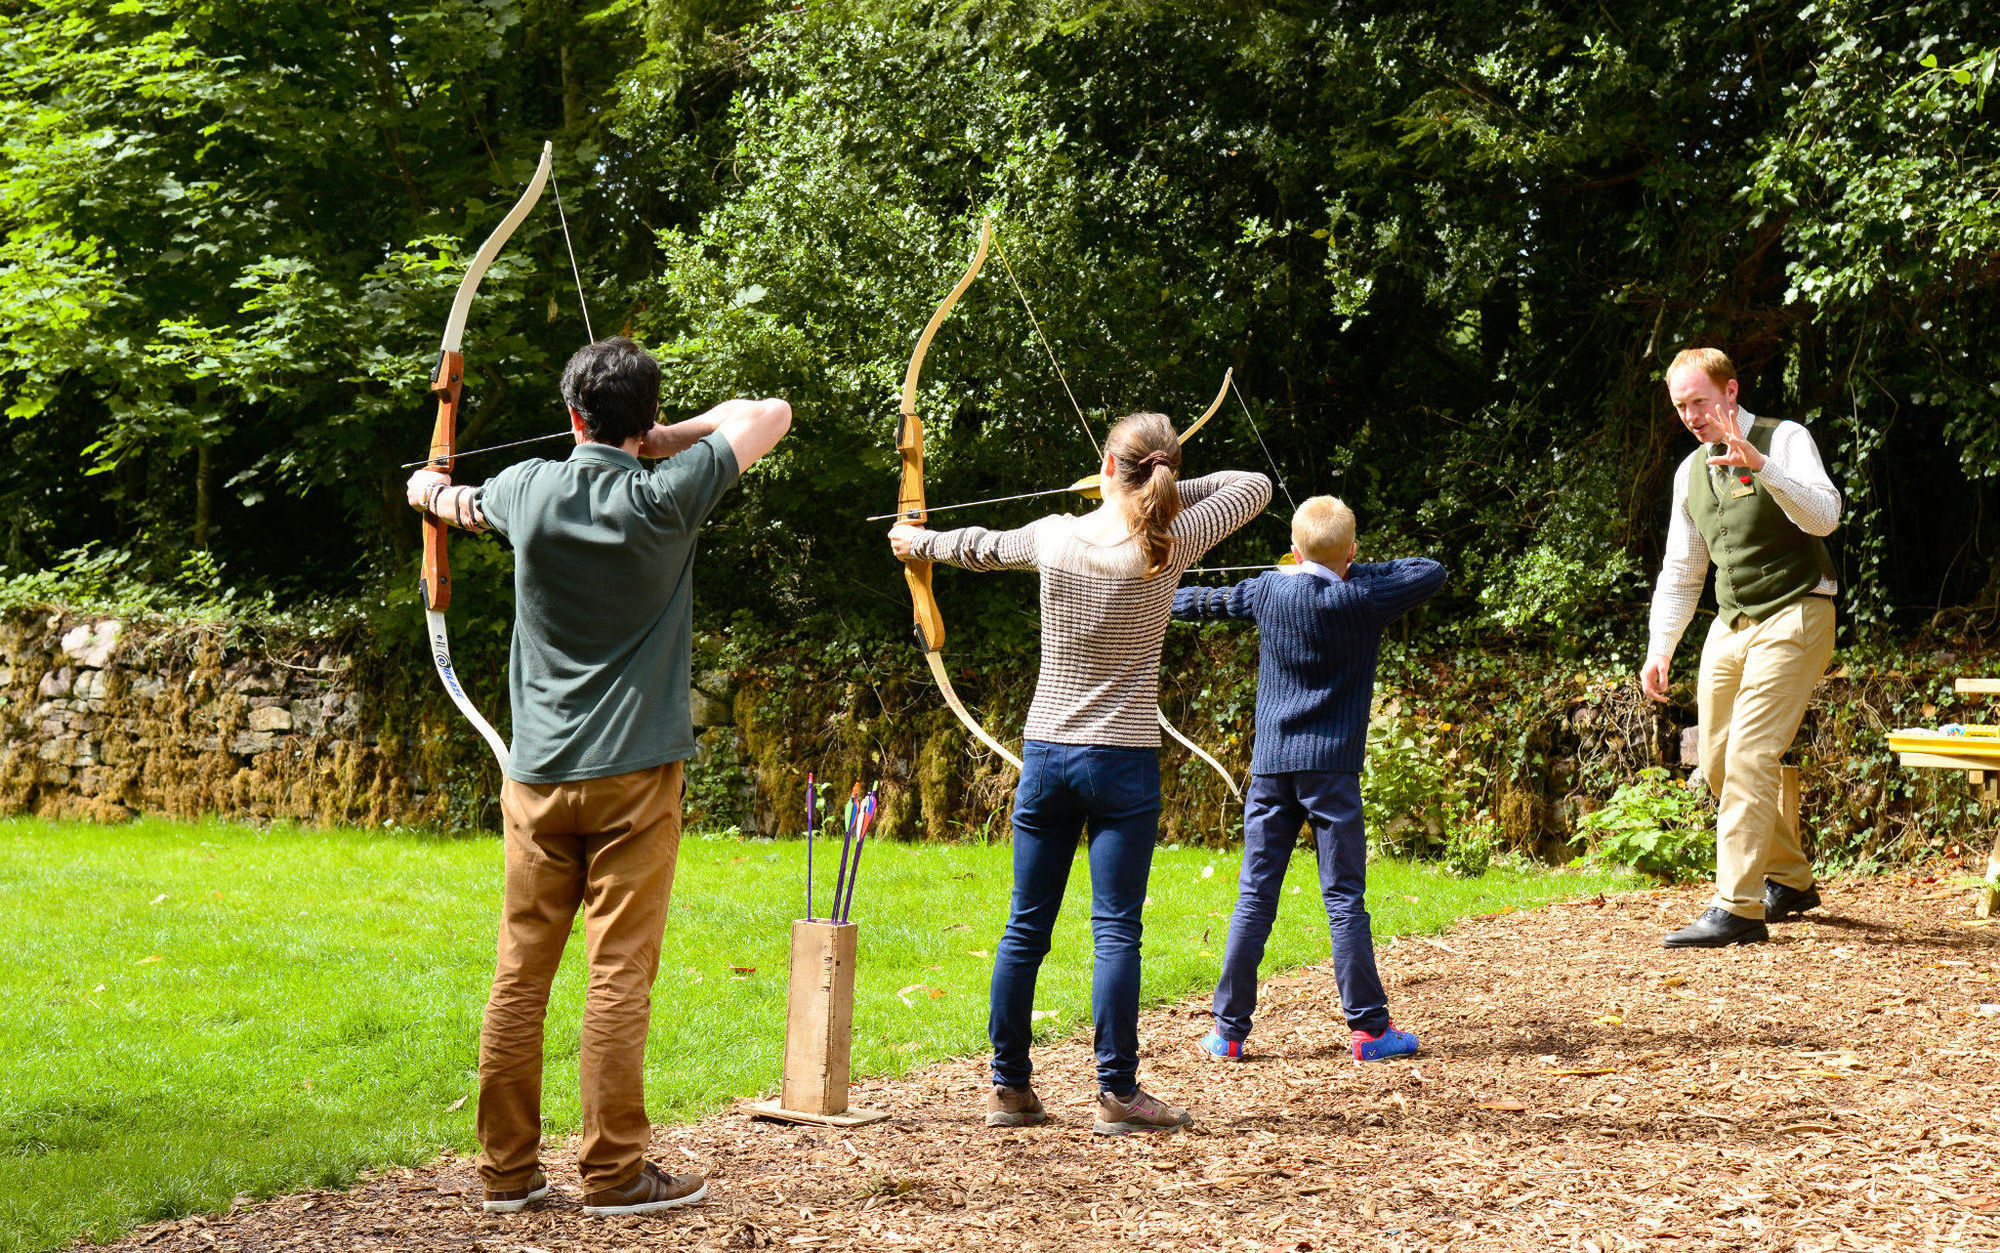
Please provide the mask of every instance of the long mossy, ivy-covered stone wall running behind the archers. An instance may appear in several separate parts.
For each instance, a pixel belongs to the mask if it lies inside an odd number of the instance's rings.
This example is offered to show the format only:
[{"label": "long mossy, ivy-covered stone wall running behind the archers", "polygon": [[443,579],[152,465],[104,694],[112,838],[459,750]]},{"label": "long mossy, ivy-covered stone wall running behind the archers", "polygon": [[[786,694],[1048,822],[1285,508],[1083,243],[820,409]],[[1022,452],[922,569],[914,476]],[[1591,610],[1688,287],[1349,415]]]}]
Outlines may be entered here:
[{"label": "long mossy, ivy-covered stone wall running behind the archers", "polygon": [[[1004,839],[1016,775],[946,709],[922,657],[866,665],[808,645],[720,665],[696,657],[700,753],[688,823],[790,833],[804,781],[880,781],[886,839]],[[466,659],[460,659],[462,665]],[[1030,669],[952,657],[966,707],[1020,743]],[[1686,669],[1686,667],[1684,667]],[[494,661],[462,671],[504,715]],[[1964,779],[1904,771],[1886,731],[2000,721],[1952,695],[1956,675],[2000,675],[2000,651],[1842,651],[1792,761],[1804,819],[1830,863],[1908,861],[1990,841]],[[1174,631],[1160,707],[1238,781],[1250,757],[1256,637]],[[504,725],[504,719],[496,719]],[[1644,767],[1686,773],[1694,697],[1656,705],[1632,675],[1550,659],[1392,651],[1376,699],[1370,789],[1396,799],[1412,849],[1466,815],[1544,859],[1572,853],[1576,819]],[[1240,803],[1178,745],[1162,749],[1162,839],[1228,843]],[[342,825],[494,829],[500,777],[438,691],[422,641],[372,629],[310,635],[268,624],[120,620],[58,608],[0,614],[0,811],[116,821],[144,811]]]}]

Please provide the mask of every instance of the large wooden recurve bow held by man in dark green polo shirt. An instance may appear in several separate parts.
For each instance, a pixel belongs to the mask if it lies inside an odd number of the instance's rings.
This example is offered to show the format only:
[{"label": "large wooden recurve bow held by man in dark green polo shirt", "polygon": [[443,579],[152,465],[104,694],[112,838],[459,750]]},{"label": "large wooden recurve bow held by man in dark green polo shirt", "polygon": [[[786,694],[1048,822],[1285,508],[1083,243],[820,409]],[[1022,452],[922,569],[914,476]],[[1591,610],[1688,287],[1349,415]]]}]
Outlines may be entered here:
[{"label": "large wooden recurve bow held by man in dark green polo shirt", "polygon": [[[458,280],[458,294],[452,296],[452,314],[444,322],[438,364],[430,372],[430,390],[438,396],[438,420],[430,428],[430,458],[426,464],[444,474],[450,474],[458,462],[458,402],[466,384],[466,358],[460,348],[466,338],[466,316],[472,312],[472,296],[478,294],[480,280],[486,278],[486,270],[500,256],[500,248],[514,236],[514,230],[528,216],[528,210],[534,208],[534,202],[542,198],[554,154],[554,144],[542,144],[542,160],[534,168],[534,178],[528,180],[528,188],[520,194],[520,200],[500,218],[500,224],[486,236],[480,250],[472,254],[472,262],[466,264],[466,276]],[[424,600],[424,633],[430,639],[430,661],[438,667],[438,681],[444,685],[446,695],[450,695],[452,705],[458,707],[458,713],[466,715],[466,721],[480,733],[486,747],[494,751],[494,761],[500,763],[500,773],[506,775],[506,741],[500,739],[492,723],[472,705],[472,697],[466,695],[464,685],[458,681],[458,671],[452,669],[452,637],[444,624],[444,610],[452,604],[448,536],[450,528],[446,528],[444,518],[426,512],[424,570],[416,590]]]}]

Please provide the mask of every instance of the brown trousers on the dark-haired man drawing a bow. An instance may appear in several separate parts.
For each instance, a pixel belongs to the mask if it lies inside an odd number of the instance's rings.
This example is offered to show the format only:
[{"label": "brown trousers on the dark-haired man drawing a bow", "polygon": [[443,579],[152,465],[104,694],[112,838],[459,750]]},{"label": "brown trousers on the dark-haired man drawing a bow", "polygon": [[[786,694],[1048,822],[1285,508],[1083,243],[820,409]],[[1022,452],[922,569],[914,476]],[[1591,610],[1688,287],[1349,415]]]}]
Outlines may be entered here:
[{"label": "brown trousers on the dark-haired man drawing a bow", "polygon": [[646,1029],[660,935],[680,855],[680,763],[500,791],[506,891],[500,957],[480,1031],[480,1179],[490,1191],[528,1185],[542,1147],[542,1023],[576,909],[584,911],[586,1191],[638,1175],[646,1119]]}]

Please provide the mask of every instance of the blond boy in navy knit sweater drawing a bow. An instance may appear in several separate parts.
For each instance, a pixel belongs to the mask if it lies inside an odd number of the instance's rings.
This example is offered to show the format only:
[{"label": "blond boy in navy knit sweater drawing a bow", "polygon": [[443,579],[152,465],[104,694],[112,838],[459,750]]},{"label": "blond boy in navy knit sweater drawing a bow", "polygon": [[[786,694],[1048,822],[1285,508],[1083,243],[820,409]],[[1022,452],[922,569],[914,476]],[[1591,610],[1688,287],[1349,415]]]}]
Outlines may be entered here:
[{"label": "blond boy in navy knit sweater drawing a bow", "polygon": [[1354,1033],[1354,1057],[1380,1061],[1416,1053],[1396,1031],[1374,965],[1374,935],[1362,893],[1368,837],[1362,831],[1362,755],[1374,699],[1382,629],[1444,586],[1444,566],[1422,556],[1354,560],[1354,510],[1314,496],[1292,514],[1292,558],[1220,588],[1180,588],[1180,620],[1248,618],[1258,627],[1256,749],[1244,797],[1244,869],[1216,981],[1210,1057],[1242,1061],[1256,1011],[1256,969],[1278,917],[1278,891],[1304,825],[1320,853],[1320,897],[1334,937],[1334,977]]}]

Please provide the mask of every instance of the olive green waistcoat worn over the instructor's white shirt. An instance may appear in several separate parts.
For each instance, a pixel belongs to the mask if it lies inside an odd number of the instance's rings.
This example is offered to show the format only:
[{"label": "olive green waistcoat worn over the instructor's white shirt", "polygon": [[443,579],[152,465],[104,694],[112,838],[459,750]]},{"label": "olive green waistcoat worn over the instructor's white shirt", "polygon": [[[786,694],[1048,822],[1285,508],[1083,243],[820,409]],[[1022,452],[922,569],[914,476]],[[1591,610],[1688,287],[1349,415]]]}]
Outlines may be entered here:
[{"label": "olive green waistcoat worn over the instructor's white shirt", "polygon": [[[1770,456],[1776,418],[1750,422],[1750,446]],[[1716,562],[1716,612],[1762,622],[1834,576],[1834,560],[1816,534],[1784,516],[1764,484],[1744,466],[1710,466],[1724,444],[1702,444],[1686,462],[1688,512]],[[1720,480],[1718,480],[1720,478]]]}]

